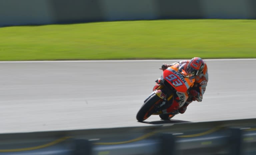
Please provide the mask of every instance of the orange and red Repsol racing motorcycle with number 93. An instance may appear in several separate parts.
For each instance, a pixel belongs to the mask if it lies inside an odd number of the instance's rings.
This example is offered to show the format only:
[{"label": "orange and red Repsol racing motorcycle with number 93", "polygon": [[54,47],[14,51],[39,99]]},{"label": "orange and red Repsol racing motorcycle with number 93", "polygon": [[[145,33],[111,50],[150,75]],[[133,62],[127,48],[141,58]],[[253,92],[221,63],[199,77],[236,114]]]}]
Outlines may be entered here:
[{"label": "orange and red Repsol racing motorcycle with number 93", "polygon": [[189,97],[189,89],[193,87],[195,78],[188,76],[177,65],[163,71],[156,80],[158,87],[144,101],[137,113],[137,120],[144,121],[151,115],[159,115],[162,120],[168,120],[179,113]]}]

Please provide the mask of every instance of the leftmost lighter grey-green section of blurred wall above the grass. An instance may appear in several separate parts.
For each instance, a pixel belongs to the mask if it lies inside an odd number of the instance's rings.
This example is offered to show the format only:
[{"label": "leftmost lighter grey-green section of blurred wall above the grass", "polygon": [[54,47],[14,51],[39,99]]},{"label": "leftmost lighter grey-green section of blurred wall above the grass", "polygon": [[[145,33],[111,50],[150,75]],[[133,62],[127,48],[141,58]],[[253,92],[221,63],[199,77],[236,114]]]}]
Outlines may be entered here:
[{"label": "leftmost lighter grey-green section of blurred wall above the grass", "polygon": [[0,0],[0,26],[54,23],[47,0]]}]

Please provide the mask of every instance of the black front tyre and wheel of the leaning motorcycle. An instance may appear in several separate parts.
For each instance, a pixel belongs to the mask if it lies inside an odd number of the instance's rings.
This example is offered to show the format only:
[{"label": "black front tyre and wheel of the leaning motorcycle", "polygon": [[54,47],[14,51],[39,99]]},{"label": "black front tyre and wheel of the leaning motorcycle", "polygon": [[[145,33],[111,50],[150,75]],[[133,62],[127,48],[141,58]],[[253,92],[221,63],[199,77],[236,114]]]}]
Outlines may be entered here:
[{"label": "black front tyre and wheel of the leaning motorcycle", "polygon": [[153,94],[146,100],[146,102],[142,105],[140,110],[137,113],[137,120],[139,122],[144,121],[149,116],[151,116],[155,112],[155,105],[159,104],[163,99],[158,97],[156,94]]}]

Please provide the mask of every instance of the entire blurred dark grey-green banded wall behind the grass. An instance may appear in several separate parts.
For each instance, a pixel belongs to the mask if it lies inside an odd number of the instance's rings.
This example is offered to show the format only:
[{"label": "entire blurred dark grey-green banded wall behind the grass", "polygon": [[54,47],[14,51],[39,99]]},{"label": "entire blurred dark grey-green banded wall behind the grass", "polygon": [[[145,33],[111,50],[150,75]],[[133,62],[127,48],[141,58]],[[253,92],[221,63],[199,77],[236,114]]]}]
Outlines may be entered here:
[{"label": "entire blurred dark grey-green banded wall behind the grass", "polygon": [[255,0],[0,0],[0,26],[152,19],[256,19]]}]

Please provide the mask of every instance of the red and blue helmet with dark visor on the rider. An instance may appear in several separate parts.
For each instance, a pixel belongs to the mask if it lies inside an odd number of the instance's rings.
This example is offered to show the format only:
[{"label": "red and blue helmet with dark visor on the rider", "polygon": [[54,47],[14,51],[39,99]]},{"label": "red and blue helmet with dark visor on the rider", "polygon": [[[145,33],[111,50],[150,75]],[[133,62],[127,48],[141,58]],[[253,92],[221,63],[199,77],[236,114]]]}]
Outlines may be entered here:
[{"label": "red and blue helmet with dark visor on the rider", "polygon": [[192,58],[187,66],[187,72],[189,75],[197,76],[203,72],[204,61],[201,58]]}]

